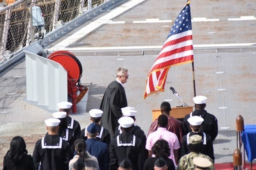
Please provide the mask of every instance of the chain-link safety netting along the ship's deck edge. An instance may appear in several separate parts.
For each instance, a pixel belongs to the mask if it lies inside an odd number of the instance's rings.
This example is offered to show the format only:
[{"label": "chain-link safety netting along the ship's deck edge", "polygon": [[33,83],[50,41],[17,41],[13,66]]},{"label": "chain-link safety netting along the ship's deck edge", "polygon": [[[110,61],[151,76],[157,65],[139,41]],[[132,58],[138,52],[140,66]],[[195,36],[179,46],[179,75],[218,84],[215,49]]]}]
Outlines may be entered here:
[{"label": "chain-link safety netting along the ship's deck edge", "polygon": [[[18,0],[0,8],[0,61],[6,61],[15,52],[33,42],[32,28],[38,37],[62,26],[80,14],[95,8],[106,0]],[[32,27],[30,6],[39,6],[44,16],[44,32]],[[33,32],[32,32],[33,34]]]}]

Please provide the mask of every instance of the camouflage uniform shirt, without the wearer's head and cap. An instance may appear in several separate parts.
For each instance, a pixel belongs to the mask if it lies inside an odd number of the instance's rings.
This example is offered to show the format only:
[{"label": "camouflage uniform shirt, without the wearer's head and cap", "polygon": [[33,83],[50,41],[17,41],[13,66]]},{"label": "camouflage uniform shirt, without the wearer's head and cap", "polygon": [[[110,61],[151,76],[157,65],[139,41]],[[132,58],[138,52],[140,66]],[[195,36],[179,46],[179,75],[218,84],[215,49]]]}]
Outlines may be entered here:
[{"label": "camouflage uniform shirt, without the wearer's head and cap", "polygon": [[196,158],[196,157],[202,157],[202,158],[206,158],[206,159],[210,160],[212,162],[212,166],[210,166],[209,169],[215,170],[214,163],[213,163],[212,159],[207,155],[201,154],[200,152],[198,152],[198,153],[190,152],[189,154],[182,156],[182,158],[180,158],[180,161],[178,163],[176,170],[194,170],[195,166],[193,163],[193,158]]}]

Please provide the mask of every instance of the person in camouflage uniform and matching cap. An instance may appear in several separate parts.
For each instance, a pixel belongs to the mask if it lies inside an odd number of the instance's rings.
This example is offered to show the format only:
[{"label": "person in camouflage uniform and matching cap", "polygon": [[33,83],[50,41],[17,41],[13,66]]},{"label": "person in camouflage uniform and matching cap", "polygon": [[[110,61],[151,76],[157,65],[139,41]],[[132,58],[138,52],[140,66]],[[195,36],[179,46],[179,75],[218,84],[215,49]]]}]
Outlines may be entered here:
[{"label": "person in camouflage uniform and matching cap", "polygon": [[193,158],[195,157],[202,157],[210,160],[210,162],[212,162],[212,166],[210,166],[209,170],[215,170],[212,159],[209,156],[199,152],[200,148],[202,147],[202,137],[198,134],[192,135],[189,137],[189,142],[190,144],[188,144],[188,150],[190,150],[190,153],[180,158],[176,170],[194,170],[195,166],[193,163]]}]

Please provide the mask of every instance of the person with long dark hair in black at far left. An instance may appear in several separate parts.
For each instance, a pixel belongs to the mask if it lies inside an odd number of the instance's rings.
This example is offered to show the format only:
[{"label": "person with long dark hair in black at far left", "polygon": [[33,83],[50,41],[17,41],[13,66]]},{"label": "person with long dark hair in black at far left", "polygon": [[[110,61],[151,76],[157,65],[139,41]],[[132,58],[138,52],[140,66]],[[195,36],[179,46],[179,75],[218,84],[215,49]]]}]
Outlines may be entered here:
[{"label": "person with long dark hair in black at far left", "polygon": [[35,170],[32,156],[28,155],[26,143],[21,136],[12,139],[10,150],[4,156],[3,170]]}]

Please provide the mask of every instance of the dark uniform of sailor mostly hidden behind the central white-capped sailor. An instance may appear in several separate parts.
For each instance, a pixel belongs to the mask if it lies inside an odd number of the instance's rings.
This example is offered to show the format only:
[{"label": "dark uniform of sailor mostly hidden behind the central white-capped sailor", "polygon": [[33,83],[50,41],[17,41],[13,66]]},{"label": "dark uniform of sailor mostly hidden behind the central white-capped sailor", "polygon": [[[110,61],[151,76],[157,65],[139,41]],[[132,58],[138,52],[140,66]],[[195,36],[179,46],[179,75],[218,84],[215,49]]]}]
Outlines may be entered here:
[{"label": "dark uniform of sailor mostly hidden behind the central white-capped sailor", "polygon": [[[121,130],[121,126],[119,125],[118,127],[116,127],[114,137],[118,136],[121,133],[122,133],[122,130]],[[142,140],[142,145],[144,147],[144,158],[146,159],[148,157],[148,150],[146,149],[146,141],[147,141],[146,134],[137,125],[132,125],[130,129],[130,133],[134,134],[136,137]]]}]

